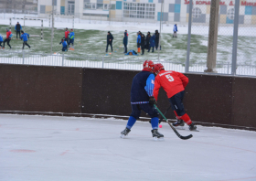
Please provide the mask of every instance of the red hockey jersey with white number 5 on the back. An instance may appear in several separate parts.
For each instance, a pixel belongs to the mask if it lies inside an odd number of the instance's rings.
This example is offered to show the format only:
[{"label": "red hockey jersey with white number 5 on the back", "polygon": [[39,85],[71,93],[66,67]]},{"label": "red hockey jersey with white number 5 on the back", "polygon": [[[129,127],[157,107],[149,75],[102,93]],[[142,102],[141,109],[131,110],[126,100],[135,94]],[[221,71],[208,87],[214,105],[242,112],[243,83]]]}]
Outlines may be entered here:
[{"label": "red hockey jersey with white number 5 on the back", "polygon": [[188,78],[182,73],[162,69],[155,77],[155,88],[153,91],[155,100],[157,101],[158,91],[161,87],[163,87],[167,93],[167,97],[171,98],[176,93],[184,91],[187,83]]}]

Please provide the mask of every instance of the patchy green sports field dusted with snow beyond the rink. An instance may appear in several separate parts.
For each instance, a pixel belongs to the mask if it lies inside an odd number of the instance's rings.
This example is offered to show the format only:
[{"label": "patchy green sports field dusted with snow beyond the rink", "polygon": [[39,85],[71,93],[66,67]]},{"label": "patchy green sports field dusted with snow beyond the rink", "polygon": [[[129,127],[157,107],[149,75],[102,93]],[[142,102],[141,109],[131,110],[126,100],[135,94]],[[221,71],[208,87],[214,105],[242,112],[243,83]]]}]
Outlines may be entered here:
[{"label": "patchy green sports field dusted with snow beyond the rink", "polygon": [[[10,15],[9,15],[10,16]],[[21,22],[22,24],[23,22]],[[1,20],[0,33],[5,36],[5,27],[9,25],[9,20]],[[13,20],[13,29],[16,20]],[[30,35],[40,34],[40,21],[26,21],[25,30]],[[50,53],[50,29],[48,28],[48,20],[44,21],[44,40],[39,38],[31,38],[28,43],[32,46],[30,51],[33,53]],[[55,27],[64,29],[72,27],[72,19],[56,18]],[[128,30],[128,50],[136,50],[136,32],[142,31],[145,35],[147,31],[155,32],[160,29],[159,24],[143,24],[143,23],[125,23],[125,22],[100,22],[75,19],[75,51],[69,51],[65,54],[80,57],[97,56],[108,57],[114,59],[131,59],[130,56],[123,55],[123,31]],[[185,63],[187,58],[187,26],[178,25],[178,37],[172,37],[173,25],[164,25],[162,29],[162,50],[159,52],[159,59],[165,62]],[[113,52],[105,53],[107,31],[111,31],[114,37]],[[256,65],[254,48],[256,47],[256,27],[240,27],[238,42],[238,64]],[[55,30],[53,39],[53,52],[60,52],[60,39],[64,36],[64,30]],[[227,64],[231,62],[232,55],[232,37],[233,27],[219,27],[219,40],[217,63]],[[21,51],[22,43],[13,39],[11,45],[14,50]],[[202,63],[207,60],[208,48],[208,27],[193,26],[191,37],[191,53],[190,62]],[[133,57],[133,59],[158,59],[158,52],[145,53],[144,56]]]}]

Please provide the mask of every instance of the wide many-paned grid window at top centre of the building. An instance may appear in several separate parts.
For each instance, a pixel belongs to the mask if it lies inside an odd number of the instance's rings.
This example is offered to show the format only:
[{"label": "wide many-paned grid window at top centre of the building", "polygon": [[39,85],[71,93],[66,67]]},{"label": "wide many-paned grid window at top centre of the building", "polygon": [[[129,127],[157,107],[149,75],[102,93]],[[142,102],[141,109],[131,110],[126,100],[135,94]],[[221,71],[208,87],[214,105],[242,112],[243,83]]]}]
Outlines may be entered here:
[{"label": "wide many-paned grid window at top centre of the building", "polygon": [[123,3],[123,16],[132,18],[155,18],[155,4]]}]

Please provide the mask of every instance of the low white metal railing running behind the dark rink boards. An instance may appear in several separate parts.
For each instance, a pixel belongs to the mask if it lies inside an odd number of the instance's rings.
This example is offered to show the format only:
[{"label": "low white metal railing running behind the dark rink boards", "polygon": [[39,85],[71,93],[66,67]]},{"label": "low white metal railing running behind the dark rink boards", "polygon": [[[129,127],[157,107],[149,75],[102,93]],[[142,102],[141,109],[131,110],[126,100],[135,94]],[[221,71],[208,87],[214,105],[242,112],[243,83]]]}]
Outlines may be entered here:
[{"label": "low white metal railing running behind the dark rink boards", "polygon": [[[107,56],[69,56],[65,54],[38,54],[26,51],[16,52],[2,50],[0,51],[0,63],[3,64],[24,64],[39,66],[60,66],[60,67],[80,67],[97,69],[130,69],[141,70],[144,59],[138,57],[111,58]],[[158,63],[158,61],[155,61]],[[185,72],[185,63],[162,60],[160,61],[167,70]],[[204,72],[206,63],[190,63],[189,72]],[[230,74],[231,63],[218,63],[216,70],[219,74]],[[256,76],[256,66],[247,64],[237,65],[237,75]]]}]

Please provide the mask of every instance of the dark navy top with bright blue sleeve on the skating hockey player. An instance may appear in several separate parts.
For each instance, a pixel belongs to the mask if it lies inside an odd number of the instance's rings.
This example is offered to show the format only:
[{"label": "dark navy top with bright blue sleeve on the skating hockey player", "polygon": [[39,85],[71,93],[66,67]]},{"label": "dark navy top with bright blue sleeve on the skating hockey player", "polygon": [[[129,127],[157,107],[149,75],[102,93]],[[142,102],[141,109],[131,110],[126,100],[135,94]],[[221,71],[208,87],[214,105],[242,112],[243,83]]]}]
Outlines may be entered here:
[{"label": "dark navy top with bright blue sleeve on the skating hockey player", "polygon": [[133,78],[131,89],[131,103],[148,103],[149,97],[153,96],[155,76],[149,71],[141,71]]}]

